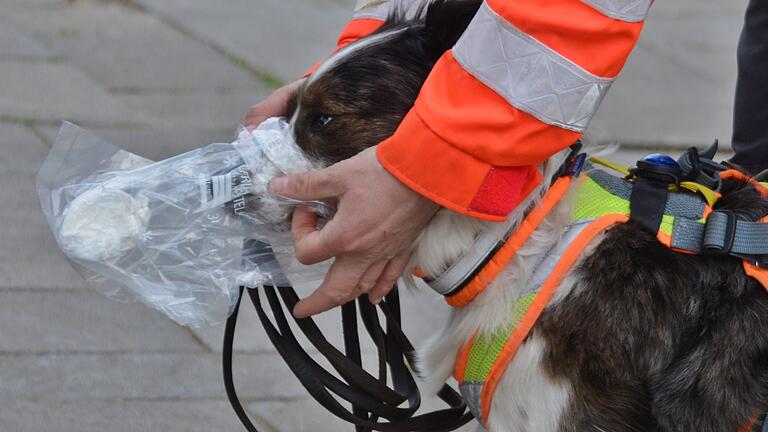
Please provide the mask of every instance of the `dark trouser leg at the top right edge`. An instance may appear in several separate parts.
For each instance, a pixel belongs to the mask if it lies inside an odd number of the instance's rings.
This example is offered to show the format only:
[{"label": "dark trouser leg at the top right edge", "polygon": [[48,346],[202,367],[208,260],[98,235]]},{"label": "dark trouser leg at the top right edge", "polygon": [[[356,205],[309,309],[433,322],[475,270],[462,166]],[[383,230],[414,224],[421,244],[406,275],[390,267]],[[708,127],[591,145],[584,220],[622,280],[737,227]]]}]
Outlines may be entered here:
[{"label": "dark trouser leg at the top right edge", "polygon": [[732,161],[768,168],[768,0],[750,0],[738,49]]}]

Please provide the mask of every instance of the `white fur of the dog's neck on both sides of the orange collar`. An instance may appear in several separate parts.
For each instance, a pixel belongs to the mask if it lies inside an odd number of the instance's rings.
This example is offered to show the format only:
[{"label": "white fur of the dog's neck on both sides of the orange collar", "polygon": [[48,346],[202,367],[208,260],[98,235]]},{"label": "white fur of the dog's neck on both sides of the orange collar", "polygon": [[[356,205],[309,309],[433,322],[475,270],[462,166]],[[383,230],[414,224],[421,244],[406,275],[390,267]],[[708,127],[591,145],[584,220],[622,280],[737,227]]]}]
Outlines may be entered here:
[{"label": "white fur of the dog's neck on both sides of the orange collar", "polygon": [[[471,218],[447,209],[440,210],[417,240],[411,263],[403,278],[406,284],[416,287],[411,273],[414,268],[418,268],[427,278],[440,277],[473,249],[475,240],[482,233],[495,230],[501,239],[506,230],[519,227],[528,210],[549,189],[552,177],[568,152],[565,150],[553,156],[539,167],[544,180],[509,215],[506,224]],[[536,235],[532,237],[534,241],[521,249],[510,262],[509,268],[500,274],[503,281],[494,281],[490,289],[485,290],[471,304],[451,309],[446,317],[451,325],[427,342],[419,357],[419,367],[424,371],[428,391],[436,392],[451,375],[456,353],[462,343],[478,331],[490,334],[508,322],[510,302],[519,298],[528,286],[531,257],[548,250],[560,238],[564,221],[570,219],[567,217],[567,207],[564,205],[554,211],[543,226],[537,229]]]}]

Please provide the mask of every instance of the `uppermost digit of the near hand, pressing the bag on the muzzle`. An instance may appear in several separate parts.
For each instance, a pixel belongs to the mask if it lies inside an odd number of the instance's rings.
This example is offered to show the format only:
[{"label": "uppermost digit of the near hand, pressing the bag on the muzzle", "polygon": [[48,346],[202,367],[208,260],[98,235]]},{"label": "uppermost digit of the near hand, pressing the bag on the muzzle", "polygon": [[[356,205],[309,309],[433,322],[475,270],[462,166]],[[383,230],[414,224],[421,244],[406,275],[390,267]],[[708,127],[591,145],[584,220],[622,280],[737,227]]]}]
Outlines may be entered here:
[{"label": "uppermost digit of the near hand, pressing the bag on the muzzle", "polygon": [[278,177],[272,180],[269,189],[275,195],[302,201],[333,198],[344,191],[341,179],[332,168]]}]

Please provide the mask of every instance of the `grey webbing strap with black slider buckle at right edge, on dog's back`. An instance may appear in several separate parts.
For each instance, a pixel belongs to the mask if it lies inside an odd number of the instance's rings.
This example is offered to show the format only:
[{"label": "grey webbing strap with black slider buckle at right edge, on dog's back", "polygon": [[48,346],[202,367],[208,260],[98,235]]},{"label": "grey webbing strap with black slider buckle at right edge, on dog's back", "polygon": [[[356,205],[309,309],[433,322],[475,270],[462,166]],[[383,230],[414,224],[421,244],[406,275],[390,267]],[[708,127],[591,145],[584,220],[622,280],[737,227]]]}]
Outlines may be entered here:
[{"label": "grey webbing strap with black slider buckle at right edge, on dog's back", "polygon": [[672,231],[672,247],[694,253],[768,255],[768,223],[736,220],[723,211],[712,212],[706,223],[678,218]]}]

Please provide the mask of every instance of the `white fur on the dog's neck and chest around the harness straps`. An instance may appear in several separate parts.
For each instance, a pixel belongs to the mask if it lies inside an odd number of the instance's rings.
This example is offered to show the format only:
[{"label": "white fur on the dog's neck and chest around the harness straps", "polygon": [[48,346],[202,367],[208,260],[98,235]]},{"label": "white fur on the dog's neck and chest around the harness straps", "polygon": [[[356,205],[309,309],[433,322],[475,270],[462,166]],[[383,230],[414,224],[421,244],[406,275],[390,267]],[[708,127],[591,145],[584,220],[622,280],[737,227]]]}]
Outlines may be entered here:
[{"label": "white fur on the dog's neck and chest around the harness straps", "polygon": [[[563,151],[543,164],[540,169],[545,180],[509,216],[510,225],[507,226],[519,226],[527,210],[539,202],[548,189],[549,179],[566,155],[567,151]],[[571,210],[571,200],[566,197],[483,293],[471,304],[451,311],[443,331],[420,350],[418,367],[427,391],[436,392],[450,378],[459,349],[472,335],[488,334],[508,324],[512,302],[531,291],[531,267],[535,257],[557,244],[570,220]],[[441,210],[417,240],[408,268],[418,267],[428,276],[438,276],[470,249],[481,231],[495,230],[502,236],[502,225]],[[575,284],[574,276],[566,277],[550,305],[561,301]],[[571,386],[562,380],[553,380],[542,369],[544,350],[544,340],[535,334],[521,346],[496,389],[488,419],[490,431],[547,432],[559,429],[561,414],[571,397]]]}]

